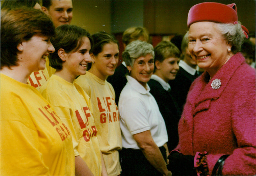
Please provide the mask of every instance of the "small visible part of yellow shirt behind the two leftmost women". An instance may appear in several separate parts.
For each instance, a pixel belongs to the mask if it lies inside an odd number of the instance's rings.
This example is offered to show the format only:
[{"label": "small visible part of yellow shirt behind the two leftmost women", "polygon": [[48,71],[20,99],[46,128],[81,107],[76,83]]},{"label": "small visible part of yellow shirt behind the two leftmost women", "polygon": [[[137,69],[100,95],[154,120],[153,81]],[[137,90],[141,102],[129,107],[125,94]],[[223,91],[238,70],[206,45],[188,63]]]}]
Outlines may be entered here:
[{"label": "small visible part of yellow shirt behind the two leftmost women", "polygon": [[39,90],[42,85],[55,73],[55,69],[49,65],[49,58],[46,57],[45,69],[33,72],[28,77],[28,84]]}]

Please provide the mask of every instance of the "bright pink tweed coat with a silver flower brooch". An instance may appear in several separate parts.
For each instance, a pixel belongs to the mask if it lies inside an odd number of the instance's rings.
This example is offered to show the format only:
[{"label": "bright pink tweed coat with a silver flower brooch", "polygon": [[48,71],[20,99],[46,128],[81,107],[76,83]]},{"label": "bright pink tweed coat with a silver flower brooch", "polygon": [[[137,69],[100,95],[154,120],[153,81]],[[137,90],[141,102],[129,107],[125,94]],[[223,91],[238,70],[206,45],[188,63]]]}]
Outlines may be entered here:
[{"label": "bright pink tweed coat with a silver flower brooch", "polygon": [[[235,54],[209,82],[204,72],[191,85],[179,121],[179,144],[184,155],[206,151],[210,174],[224,154],[222,175],[255,175],[255,69]],[[220,88],[211,83],[219,79]]]}]

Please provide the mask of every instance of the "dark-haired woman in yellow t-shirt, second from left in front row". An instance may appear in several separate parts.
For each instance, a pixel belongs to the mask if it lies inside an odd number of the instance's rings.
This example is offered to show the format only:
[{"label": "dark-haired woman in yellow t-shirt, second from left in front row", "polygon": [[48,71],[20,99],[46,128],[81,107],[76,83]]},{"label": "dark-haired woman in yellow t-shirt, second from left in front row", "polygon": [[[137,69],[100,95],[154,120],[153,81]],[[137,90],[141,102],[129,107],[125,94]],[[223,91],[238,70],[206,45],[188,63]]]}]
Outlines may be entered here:
[{"label": "dark-haired woman in yellow t-shirt, second from left in front row", "polygon": [[56,51],[49,58],[56,72],[40,92],[70,129],[76,175],[106,175],[90,97],[74,83],[77,76],[86,74],[87,64],[92,62],[92,37],[87,30],[74,25],[61,25],[55,31],[51,42]]}]

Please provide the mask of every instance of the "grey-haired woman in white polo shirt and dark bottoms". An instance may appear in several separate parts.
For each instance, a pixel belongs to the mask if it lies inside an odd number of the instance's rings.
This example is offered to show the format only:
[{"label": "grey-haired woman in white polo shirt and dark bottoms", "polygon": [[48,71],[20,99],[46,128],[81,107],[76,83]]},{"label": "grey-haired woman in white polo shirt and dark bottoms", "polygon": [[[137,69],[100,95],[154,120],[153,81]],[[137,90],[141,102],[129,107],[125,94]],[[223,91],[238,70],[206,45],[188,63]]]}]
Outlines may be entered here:
[{"label": "grey-haired woman in white polo shirt and dark bottoms", "polygon": [[147,84],[154,70],[154,48],[147,42],[133,41],[122,56],[129,75],[118,103],[121,175],[171,175],[166,168],[164,119]]}]

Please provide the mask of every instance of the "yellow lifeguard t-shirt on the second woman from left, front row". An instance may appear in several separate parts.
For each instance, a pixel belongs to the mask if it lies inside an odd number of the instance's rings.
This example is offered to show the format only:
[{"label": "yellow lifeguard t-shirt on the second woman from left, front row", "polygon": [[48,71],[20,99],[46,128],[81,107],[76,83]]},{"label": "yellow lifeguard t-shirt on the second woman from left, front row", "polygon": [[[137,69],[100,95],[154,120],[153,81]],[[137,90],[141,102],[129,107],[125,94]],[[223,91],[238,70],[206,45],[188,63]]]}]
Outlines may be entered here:
[{"label": "yellow lifeguard t-shirt on the second woman from left, front row", "polygon": [[40,92],[70,129],[75,156],[80,155],[92,173],[101,176],[98,131],[90,111],[90,97],[77,84],[54,74],[41,87]]}]

